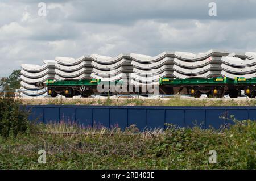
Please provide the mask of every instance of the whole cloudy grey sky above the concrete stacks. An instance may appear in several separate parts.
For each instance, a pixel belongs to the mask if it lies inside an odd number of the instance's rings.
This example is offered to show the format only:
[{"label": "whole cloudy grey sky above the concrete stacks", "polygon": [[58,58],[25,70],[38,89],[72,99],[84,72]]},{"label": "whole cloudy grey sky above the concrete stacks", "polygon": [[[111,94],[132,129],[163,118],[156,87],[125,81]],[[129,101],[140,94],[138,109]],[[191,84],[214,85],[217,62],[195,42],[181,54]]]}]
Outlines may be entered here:
[{"label": "whole cloudy grey sky above the concrete stacks", "polygon": [[209,49],[256,52],[256,0],[0,1],[0,77],[55,56]]}]

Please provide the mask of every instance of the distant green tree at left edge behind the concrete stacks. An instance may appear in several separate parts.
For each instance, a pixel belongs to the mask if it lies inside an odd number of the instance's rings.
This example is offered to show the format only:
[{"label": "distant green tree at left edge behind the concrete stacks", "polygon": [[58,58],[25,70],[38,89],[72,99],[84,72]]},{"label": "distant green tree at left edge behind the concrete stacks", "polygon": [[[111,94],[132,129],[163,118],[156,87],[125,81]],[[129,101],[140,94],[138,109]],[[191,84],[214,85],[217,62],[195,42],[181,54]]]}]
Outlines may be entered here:
[{"label": "distant green tree at left edge behind the concrete stacks", "polygon": [[11,75],[1,81],[1,85],[3,86],[3,90],[14,91],[15,89],[20,88],[20,70],[14,70]]}]

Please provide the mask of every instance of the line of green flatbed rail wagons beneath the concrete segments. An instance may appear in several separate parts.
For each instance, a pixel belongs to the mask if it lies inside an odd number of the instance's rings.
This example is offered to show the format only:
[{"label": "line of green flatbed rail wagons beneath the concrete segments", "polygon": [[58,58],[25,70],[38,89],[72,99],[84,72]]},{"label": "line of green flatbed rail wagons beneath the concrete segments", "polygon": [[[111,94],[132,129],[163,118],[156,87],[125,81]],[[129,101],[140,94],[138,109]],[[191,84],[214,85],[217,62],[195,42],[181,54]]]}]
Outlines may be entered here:
[{"label": "line of green flatbed rail wagons beneath the concrete segments", "polygon": [[[117,84],[118,82],[120,81],[115,81],[114,83]],[[48,79],[44,83],[35,83],[35,86],[40,88],[47,88],[48,95],[51,95],[52,97],[60,94],[71,98],[75,95],[88,97],[92,94],[98,94],[97,86],[99,83],[101,83],[100,79],[71,79],[64,81]],[[209,98],[222,98],[224,95],[229,95],[230,98],[237,98],[238,96],[241,96],[242,91],[244,91],[249,98],[255,98],[256,96],[256,78],[160,78],[158,86],[160,94],[186,94],[194,96],[195,98],[199,98],[202,94],[206,94]],[[110,92],[105,92],[105,94],[110,94]],[[117,92],[115,92],[115,94],[117,94]],[[131,92],[131,94],[136,93]]]}]

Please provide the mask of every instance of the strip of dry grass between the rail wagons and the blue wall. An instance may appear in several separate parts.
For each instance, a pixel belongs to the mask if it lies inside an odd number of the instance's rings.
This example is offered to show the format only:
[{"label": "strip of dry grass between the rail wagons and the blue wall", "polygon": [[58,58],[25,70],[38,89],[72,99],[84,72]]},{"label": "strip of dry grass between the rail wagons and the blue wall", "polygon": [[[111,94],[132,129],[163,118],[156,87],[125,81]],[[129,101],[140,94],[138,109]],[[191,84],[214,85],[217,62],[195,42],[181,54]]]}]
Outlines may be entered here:
[{"label": "strip of dry grass between the rail wagons and the blue wall", "polygon": [[23,99],[23,104],[105,105],[105,106],[256,106],[256,99],[187,99],[179,96],[166,99],[141,98],[42,98]]}]

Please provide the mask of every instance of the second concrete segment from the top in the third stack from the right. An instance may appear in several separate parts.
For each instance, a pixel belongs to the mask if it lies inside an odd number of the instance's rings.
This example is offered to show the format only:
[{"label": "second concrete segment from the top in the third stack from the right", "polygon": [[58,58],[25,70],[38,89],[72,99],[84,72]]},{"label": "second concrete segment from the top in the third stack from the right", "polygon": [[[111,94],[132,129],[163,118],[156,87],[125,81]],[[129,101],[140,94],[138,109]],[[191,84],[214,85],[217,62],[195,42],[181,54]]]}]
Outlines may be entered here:
[{"label": "second concrete segment from the top in the third stack from the right", "polygon": [[131,61],[131,65],[139,69],[156,69],[156,68],[159,68],[160,66],[168,65],[168,64],[174,64],[174,58],[165,57],[158,62],[151,62],[148,64],[142,64],[134,60]]}]

